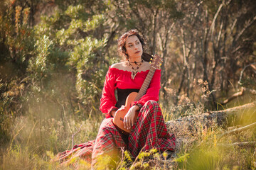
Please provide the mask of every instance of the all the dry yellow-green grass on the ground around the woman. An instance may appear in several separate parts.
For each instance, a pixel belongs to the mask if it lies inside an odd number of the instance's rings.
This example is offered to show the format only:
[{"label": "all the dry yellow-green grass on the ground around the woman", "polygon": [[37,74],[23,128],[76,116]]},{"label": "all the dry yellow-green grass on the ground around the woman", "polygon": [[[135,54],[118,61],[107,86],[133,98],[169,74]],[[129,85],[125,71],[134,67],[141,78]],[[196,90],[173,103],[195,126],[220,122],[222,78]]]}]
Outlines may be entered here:
[{"label": "all the dry yellow-green grass on the ground around the woman", "polygon": [[[178,116],[203,113],[203,105],[189,103],[166,108],[160,103],[165,120]],[[95,140],[104,116],[100,111],[71,113],[68,106],[56,103],[35,104],[23,115],[1,120],[0,169],[90,169],[90,163],[74,159],[70,166],[50,162],[58,152],[71,149],[73,145]],[[230,122],[238,128],[256,122],[256,111],[243,112]],[[86,117],[84,117],[87,115]],[[200,123],[198,123],[200,126]],[[176,152],[176,157],[163,159],[165,154],[151,150],[139,154],[135,162],[122,152],[120,159],[103,157],[98,169],[256,169],[255,145],[238,147],[234,142],[256,141],[256,129],[245,130],[235,135],[219,137],[225,129],[213,126],[186,137]],[[188,132],[183,132],[188,134]],[[182,135],[182,134],[180,134]],[[178,136],[179,137],[179,136]],[[111,165],[110,166],[110,162]]]}]

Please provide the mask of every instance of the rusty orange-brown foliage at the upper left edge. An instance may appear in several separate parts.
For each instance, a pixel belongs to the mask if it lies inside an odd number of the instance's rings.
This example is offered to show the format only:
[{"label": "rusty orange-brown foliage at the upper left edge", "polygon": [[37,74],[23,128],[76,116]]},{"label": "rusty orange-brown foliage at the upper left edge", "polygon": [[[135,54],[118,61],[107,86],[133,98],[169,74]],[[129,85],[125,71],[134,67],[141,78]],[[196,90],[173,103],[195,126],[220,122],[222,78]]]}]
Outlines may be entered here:
[{"label": "rusty orange-brown foliage at the upper left edge", "polygon": [[[28,28],[29,8],[8,6],[1,16],[1,61],[14,62],[24,72],[33,51],[33,30]],[[32,35],[31,35],[32,34]]]}]

